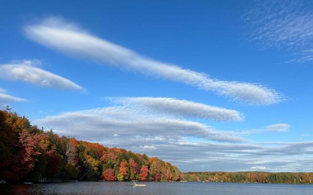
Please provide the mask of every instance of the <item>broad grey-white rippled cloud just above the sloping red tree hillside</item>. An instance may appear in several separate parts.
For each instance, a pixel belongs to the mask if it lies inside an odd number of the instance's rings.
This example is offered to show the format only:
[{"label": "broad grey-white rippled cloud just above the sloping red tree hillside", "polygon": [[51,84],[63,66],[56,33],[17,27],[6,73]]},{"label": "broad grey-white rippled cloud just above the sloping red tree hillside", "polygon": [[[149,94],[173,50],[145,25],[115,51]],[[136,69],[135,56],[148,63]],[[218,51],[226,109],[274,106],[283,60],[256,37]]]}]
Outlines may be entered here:
[{"label": "broad grey-white rippled cloud just above the sloping red tree hillside", "polygon": [[189,136],[229,142],[245,140],[199,122],[159,116],[141,109],[134,109],[127,106],[96,108],[45,117],[37,122],[62,135],[98,139],[98,141],[112,134],[118,134],[119,137]]}]

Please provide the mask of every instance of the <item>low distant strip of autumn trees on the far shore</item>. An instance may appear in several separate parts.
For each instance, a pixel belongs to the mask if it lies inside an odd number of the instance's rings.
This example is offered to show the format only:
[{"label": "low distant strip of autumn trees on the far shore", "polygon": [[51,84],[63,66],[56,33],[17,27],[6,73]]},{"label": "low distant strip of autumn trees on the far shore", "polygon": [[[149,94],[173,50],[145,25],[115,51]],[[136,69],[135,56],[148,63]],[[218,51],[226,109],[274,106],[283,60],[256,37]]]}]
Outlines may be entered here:
[{"label": "low distant strip of autumn trees on the far shore", "polygon": [[312,184],[313,173],[269,172],[185,172],[182,180],[208,182],[302,183]]}]

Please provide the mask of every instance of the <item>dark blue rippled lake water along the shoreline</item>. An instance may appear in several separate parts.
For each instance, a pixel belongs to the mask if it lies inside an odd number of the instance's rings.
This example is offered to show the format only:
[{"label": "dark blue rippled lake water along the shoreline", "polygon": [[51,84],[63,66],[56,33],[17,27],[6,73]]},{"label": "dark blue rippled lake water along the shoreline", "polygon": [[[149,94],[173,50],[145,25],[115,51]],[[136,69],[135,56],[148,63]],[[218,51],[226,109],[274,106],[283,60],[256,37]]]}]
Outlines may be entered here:
[{"label": "dark blue rippled lake water along the shoreline", "polygon": [[313,185],[141,182],[63,182],[0,185],[1,195],[313,195]]}]

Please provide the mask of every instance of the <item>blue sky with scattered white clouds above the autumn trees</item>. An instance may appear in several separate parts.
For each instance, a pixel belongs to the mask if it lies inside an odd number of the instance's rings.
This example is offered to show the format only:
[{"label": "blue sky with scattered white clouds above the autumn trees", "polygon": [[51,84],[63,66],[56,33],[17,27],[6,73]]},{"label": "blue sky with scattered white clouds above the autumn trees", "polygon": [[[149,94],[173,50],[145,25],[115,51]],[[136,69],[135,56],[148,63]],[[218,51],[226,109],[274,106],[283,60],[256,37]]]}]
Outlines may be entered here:
[{"label": "blue sky with scattered white clouds above the autumn trees", "polygon": [[182,171],[313,171],[312,2],[0,4],[2,108]]}]

